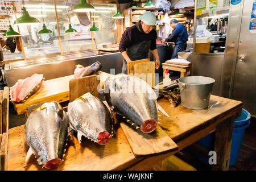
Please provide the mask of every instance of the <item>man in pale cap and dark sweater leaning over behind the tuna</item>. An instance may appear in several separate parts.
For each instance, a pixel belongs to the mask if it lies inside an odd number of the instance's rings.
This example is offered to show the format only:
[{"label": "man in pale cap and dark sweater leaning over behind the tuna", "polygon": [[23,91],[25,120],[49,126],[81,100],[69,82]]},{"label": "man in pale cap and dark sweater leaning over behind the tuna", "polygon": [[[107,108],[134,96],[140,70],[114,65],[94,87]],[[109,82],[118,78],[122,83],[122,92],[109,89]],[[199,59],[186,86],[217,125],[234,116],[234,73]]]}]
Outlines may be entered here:
[{"label": "man in pale cap and dark sweater leaning over behind the tuna", "polygon": [[156,31],[154,30],[156,17],[154,13],[146,12],[139,17],[141,20],[135,26],[123,32],[119,43],[119,51],[122,53],[122,73],[127,74],[127,63],[130,61],[147,59],[151,50],[156,58],[156,69],[159,68],[160,60],[156,49]]}]

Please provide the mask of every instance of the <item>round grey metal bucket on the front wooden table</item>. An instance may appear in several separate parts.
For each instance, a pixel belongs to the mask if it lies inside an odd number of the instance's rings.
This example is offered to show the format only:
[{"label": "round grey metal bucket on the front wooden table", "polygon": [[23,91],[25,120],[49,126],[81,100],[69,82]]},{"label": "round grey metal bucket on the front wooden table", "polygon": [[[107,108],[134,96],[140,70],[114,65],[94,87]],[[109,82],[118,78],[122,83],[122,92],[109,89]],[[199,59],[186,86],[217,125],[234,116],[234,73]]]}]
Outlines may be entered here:
[{"label": "round grey metal bucket on the front wooden table", "polygon": [[206,109],[215,80],[204,76],[179,78],[181,105],[188,109]]}]

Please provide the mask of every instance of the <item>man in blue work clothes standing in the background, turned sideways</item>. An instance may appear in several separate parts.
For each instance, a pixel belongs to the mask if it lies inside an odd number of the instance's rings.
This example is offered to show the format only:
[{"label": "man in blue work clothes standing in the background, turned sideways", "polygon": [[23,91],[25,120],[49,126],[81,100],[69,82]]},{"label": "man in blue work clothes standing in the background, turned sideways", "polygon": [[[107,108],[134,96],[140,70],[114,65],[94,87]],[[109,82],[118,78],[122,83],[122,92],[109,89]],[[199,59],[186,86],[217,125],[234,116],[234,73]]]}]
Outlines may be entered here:
[{"label": "man in blue work clothes standing in the background, turned sideways", "polygon": [[171,19],[170,21],[171,27],[174,28],[174,31],[172,32],[171,36],[164,39],[163,42],[174,42],[174,52],[172,52],[171,59],[177,58],[177,53],[182,52],[185,50],[187,46],[187,40],[188,40],[188,32],[187,28],[179,23],[176,19]]}]

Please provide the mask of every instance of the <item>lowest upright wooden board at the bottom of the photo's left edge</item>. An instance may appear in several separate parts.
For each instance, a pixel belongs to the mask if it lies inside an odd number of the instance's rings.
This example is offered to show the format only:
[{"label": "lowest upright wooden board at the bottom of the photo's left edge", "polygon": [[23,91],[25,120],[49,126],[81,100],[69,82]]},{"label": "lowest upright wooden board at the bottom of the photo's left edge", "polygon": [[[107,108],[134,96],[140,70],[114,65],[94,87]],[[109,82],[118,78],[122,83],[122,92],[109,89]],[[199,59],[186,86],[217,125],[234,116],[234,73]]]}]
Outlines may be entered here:
[{"label": "lowest upright wooden board at the bottom of the photo's left edge", "polygon": [[6,171],[7,169],[7,146],[8,136],[7,133],[3,133],[0,146],[0,171]]}]

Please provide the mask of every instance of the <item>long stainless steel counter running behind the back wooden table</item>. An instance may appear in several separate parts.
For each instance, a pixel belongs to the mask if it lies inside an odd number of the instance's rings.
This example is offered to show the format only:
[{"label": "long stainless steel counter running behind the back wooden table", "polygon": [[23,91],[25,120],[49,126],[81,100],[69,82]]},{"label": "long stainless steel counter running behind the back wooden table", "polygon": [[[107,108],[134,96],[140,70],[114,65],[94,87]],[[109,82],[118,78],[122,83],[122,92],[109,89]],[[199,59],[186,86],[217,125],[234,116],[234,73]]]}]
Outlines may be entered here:
[{"label": "long stainless steel counter running behind the back wooden table", "polygon": [[43,74],[45,80],[73,75],[77,64],[86,67],[96,61],[102,64],[103,72],[110,73],[110,69],[114,69],[115,74],[122,72],[123,57],[117,52],[90,57],[76,54],[75,57],[65,55],[54,59],[18,61],[19,63],[6,64],[4,73],[7,85],[10,87],[19,79],[30,77],[34,73]]}]

